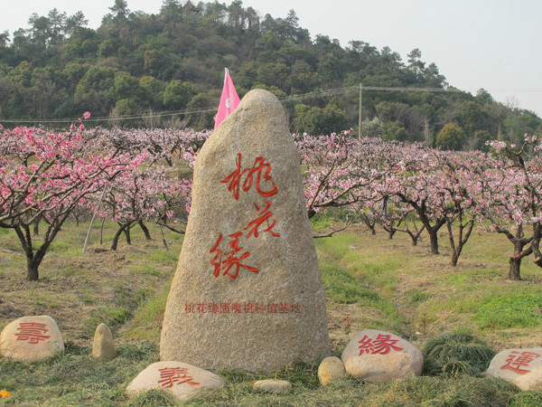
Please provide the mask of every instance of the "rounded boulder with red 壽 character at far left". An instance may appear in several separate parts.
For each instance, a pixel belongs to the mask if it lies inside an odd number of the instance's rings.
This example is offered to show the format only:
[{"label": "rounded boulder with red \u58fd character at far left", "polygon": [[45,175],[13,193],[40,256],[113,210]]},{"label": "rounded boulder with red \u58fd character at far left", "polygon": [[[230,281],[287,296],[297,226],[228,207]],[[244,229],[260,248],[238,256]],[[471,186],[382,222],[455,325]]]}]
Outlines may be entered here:
[{"label": "rounded boulder with red \u58fd character at far left", "polygon": [[64,353],[61,331],[49,316],[21,317],[0,334],[0,355],[24,362],[39,362]]}]

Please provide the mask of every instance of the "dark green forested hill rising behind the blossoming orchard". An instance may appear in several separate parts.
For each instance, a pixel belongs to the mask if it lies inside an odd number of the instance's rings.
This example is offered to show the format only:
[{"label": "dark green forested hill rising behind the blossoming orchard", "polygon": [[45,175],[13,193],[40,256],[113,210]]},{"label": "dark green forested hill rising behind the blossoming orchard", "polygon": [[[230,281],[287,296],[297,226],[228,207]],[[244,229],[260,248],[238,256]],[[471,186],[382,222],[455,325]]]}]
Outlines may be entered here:
[{"label": "dark green forested hill rising behind the blossoming orchard", "polygon": [[[56,9],[32,14],[28,29],[1,33],[0,122],[9,119],[117,118],[127,127],[174,125],[212,128],[224,68],[242,96],[265,88],[284,99],[293,130],[325,133],[357,128],[359,84],[365,87],[442,88],[435,63],[414,49],[406,62],[388,47],[363,41],[342,47],[328,36],[285,18],[260,16],[240,0],[230,5],[164,0],[159,14],[131,12],[111,0],[97,30],[82,13]],[[413,47],[416,44],[413,44]],[[332,90],[319,93],[322,90]],[[192,111],[149,118],[151,112]],[[142,116],[143,118],[118,119]],[[363,92],[363,133],[435,143],[448,123],[463,131],[463,148],[487,138],[519,141],[539,131],[542,120],[528,110],[495,102],[480,90]],[[98,122],[107,125],[111,122]]]}]

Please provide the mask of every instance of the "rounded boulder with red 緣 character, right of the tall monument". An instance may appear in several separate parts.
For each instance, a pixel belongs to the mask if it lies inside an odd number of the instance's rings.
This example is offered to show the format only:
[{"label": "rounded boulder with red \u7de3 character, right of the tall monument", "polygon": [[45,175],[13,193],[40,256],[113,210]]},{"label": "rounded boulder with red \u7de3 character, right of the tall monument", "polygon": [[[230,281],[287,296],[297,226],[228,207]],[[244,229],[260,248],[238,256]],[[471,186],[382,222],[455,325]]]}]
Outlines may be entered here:
[{"label": "rounded boulder with red \u7de3 character, right of the tall monument", "polygon": [[346,372],[371,383],[422,374],[424,356],[410,342],[376,329],[356,333],[341,355]]}]

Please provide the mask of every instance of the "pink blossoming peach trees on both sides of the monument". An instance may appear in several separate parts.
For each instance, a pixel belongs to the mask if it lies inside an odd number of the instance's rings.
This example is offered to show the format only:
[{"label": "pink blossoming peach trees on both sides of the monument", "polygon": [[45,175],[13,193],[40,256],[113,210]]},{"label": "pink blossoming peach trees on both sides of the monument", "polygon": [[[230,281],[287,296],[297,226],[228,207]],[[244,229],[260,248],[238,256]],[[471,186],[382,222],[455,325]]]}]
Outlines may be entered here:
[{"label": "pink blossoming peach trees on both sides of the monument", "polygon": [[[27,259],[27,279],[70,215],[117,222],[111,249],[145,223],[184,231],[190,213],[192,166],[209,136],[192,129],[87,131],[5,130],[0,138],[0,227],[13,229]],[[509,277],[539,251],[542,163],[537,137],[522,146],[491,142],[491,153],[447,152],[419,144],[357,139],[348,132],[294,135],[304,168],[309,217],[332,208],[374,232],[406,232],[416,244],[426,232],[438,253],[445,228],[457,264],[474,227],[505,234],[513,244]],[[38,235],[42,225],[44,231]],[[333,232],[330,232],[332,234]],[[164,244],[165,240],[164,240]]]}]

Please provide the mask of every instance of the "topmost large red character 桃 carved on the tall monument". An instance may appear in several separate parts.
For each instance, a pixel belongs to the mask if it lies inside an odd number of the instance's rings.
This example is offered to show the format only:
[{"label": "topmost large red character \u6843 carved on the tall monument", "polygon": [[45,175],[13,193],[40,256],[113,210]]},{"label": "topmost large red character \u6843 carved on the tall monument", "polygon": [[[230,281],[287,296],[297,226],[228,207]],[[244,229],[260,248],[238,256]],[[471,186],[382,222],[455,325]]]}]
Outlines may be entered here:
[{"label": "topmost large red character \u6843 carved on the tall monument", "polygon": [[[269,163],[266,163],[266,159],[264,157],[258,156],[252,168],[245,168],[241,170],[241,153],[238,153],[235,164],[237,166],[235,171],[220,181],[222,183],[229,183],[228,191],[233,192],[233,197],[235,199],[239,199],[239,184],[243,175],[247,173],[247,178],[245,178],[245,182],[243,183],[243,191],[248,192],[252,186],[254,175],[256,175],[256,189],[258,194],[269,197],[278,192],[275,183],[272,181],[271,175],[269,175],[271,172],[271,166]],[[273,185],[270,187],[269,191],[262,190],[262,186],[260,185],[262,183],[262,178],[264,182],[272,182]]]}]

